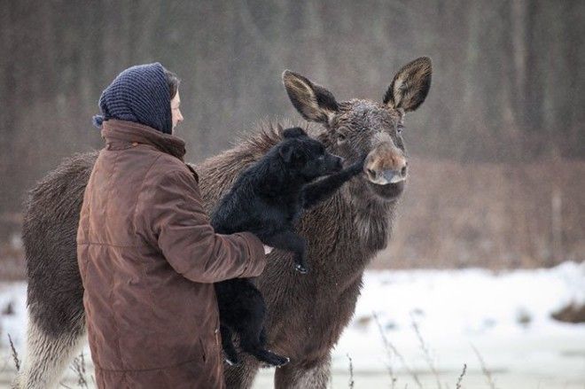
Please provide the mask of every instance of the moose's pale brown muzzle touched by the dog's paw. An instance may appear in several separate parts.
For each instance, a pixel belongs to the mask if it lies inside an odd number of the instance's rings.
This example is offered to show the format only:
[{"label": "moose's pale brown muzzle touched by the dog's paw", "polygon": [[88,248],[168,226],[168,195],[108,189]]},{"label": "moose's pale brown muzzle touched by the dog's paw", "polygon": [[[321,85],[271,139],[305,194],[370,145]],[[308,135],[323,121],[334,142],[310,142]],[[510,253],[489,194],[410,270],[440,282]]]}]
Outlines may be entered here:
[{"label": "moose's pale brown muzzle touched by the dog's paw", "polygon": [[365,172],[371,183],[386,185],[406,180],[408,161],[393,142],[378,144],[365,160]]}]

